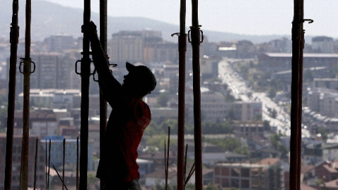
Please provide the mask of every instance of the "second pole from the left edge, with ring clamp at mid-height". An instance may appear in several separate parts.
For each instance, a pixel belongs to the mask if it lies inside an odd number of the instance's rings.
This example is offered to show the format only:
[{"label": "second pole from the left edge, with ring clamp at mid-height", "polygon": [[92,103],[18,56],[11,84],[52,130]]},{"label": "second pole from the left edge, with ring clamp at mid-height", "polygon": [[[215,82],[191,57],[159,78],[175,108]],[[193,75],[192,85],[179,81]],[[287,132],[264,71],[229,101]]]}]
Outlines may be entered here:
[{"label": "second pole from the left edge, with ring clamp at mid-height", "polygon": [[30,133],[30,18],[31,1],[26,0],[25,59],[23,61],[23,141],[21,150],[21,188],[28,188],[28,153]]}]

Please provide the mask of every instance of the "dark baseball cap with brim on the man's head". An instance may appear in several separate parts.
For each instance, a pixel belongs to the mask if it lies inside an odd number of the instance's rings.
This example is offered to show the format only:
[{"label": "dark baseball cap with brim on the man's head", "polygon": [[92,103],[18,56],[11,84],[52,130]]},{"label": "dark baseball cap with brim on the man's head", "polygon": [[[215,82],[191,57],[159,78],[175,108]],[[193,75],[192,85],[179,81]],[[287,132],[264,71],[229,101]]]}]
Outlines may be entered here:
[{"label": "dark baseball cap with brim on the man's head", "polygon": [[146,89],[149,91],[153,91],[156,87],[156,78],[154,76],[154,73],[151,72],[149,68],[147,68],[145,65],[132,65],[132,63],[125,63],[125,68],[127,68],[128,72],[136,72],[137,75],[140,75],[142,77],[142,82],[146,84]]}]

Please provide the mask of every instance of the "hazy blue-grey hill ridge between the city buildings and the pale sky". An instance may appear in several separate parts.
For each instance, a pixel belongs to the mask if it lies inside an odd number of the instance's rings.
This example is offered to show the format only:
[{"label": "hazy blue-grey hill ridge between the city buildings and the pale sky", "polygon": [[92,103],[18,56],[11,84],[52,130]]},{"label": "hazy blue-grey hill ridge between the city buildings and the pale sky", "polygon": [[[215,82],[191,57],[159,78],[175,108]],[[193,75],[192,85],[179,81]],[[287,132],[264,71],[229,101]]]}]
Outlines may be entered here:
[{"label": "hazy blue-grey hill ridge between the city buildings and the pale sky", "polygon": [[[0,37],[9,38],[12,17],[12,1],[1,1],[0,7]],[[25,37],[25,2],[20,1],[19,6],[19,27],[20,39]],[[99,14],[92,13],[92,20],[99,23]],[[54,34],[70,34],[73,37],[82,37],[81,25],[83,23],[83,10],[79,8],[70,8],[53,4],[47,1],[32,1],[32,41],[43,40]],[[180,32],[179,25],[171,25],[158,20],[148,18],[129,18],[129,17],[111,17],[108,20],[108,39],[111,34],[120,30],[161,30],[163,39],[170,42],[177,42],[177,37],[171,37],[171,34]],[[189,25],[187,25],[187,31]],[[203,30],[203,26],[201,27]],[[291,29],[290,29],[291,31]],[[204,37],[208,42],[230,42],[246,39],[253,43],[269,42],[273,39],[280,39],[280,35],[241,35],[228,32],[215,32],[203,30]],[[290,34],[291,36],[291,34]],[[309,41],[307,41],[309,42]]]}]

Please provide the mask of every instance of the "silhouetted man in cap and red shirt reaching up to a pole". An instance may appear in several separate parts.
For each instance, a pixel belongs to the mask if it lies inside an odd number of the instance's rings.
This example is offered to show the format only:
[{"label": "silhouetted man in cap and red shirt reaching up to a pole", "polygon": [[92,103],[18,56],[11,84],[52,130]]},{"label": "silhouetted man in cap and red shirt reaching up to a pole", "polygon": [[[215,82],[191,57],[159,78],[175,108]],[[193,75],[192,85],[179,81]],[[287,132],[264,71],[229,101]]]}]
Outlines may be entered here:
[{"label": "silhouetted man in cap and red shirt reaching up to a pole", "polygon": [[137,148],[151,121],[149,106],[142,99],[155,89],[156,79],[146,66],[126,63],[129,73],[120,84],[108,68],[108,56],[101,48],[96,25],[90,22],[83,29],[91,42],[100,91],[112,108],[96,177],[103,179],[101,185],[107,190],[141,189]]}]

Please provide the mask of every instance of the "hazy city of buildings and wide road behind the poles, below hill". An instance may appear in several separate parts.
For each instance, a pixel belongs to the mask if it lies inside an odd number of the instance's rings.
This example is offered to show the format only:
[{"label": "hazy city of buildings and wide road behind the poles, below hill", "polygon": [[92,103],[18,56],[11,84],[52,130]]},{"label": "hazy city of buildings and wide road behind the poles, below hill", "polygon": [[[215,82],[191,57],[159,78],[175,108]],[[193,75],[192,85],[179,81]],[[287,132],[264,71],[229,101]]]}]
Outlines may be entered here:
[{"label": "hazy city of buildings and wide road behind the poles, below hill", "polygon": [[[149,139],[167,134],[173,127],[170,148],[170,185],[175,186],[175,129],[177,130],[178,53],[175,42],[163,39],[159,30],[118,31],[108,39],[111,68],[118,80],[125,75],[125,62],[149,66],[158,86],[145,101],[152,111],[152,124],[145,132],[139,150],[139,165],[144,189],[162,183],[164,176],[163,147],[150,144]],[[0,42],[0,145],[6,141],[6,96],[8,88],[9,43]],[[205,185],[238,189],[289,189],[289,93],[291,79],[292,42],[277,38],[260,44],[249,40],[203,42],[201,44],[201,113],[204,127],[203,162]],[[46,151],[52,152],[51,165],[62,166],[63,139],[70,186],[74,185],[75,147],[80,132],[80,75],[82,39],[55,34],[32,42],[32,61],[36,70],[30,82],[31,141],[40,139],[44,162]],[[338,42],[330,37],[313,38],[304,49],[303,76],[303,168],[304,186],[330,186],[338,180],[335,167],[338,156]],[[189,144],[187,156],[194,158],[192,139],[192,48],[187,46],[186,59],[186,125]],[[18,57],[23,57],[23,43]],[[20,60],[18,58],[18,60]],[[225,63],[226,62],[226,63]],[[18,66],[20,67],[20,65]],[[227,68],[228,67],[228,68]],[[92,67],[94,70],[94,65]],[[225,77],[227,76],[227,77]],[[15,168],[20,165],[20,134],[22,134],[23,75],[16,74]],[[89,89],[89,167],[95,172],[99,158],[99,89],[91,77]],[[277,106],[271,106],[256,94],[268,96]],[[277,111],[278,109],[278,111]],[[280,110],[279,110],[280,109]],[[108,107],[108,113],[110,108]],[[283,120],[284,119],[284,120]],[[279,120],[277,122],[277,120]],[[148,134],[147,134],[148,132]],[[222,132],[222,133],[220,133]],[[230,139],[231,141],[227,141]],[[51,149],[45,148],[51,141]],[[228,144],[223,142],[227,141]],[[227,146],[234,142],[233,147]],[[156,146],[155,146],[156,145]],[[32,144],[34,146],[34,144]],[[156,151],[160,150],[160,151]],[[0,146],[4,155],[4,146]],[[32,156],[32,158],[34,158]],[[0,157],[0,188],[4,156]],[[191,164],[191,163],[189,163]],[[173,167],[173,168],[172,168]],[[307,170],[305,170],[307,169]],[[39,173],[45,168],[39,167]],[[13,184],[18,184],[15,170]],[[161,174],[161,175],[160,175]],[[54,179],[57,179],[55,171]],[[323,178],[325,176],[325,178]],[[41,186],[45,175],[41,175]],[[55,186],[58,180],[51,181]],[[32,183],[32,180],[30,180]],[[191,182],[194,183],[193,181]],[[267,186],[268,184],[268,186]]]}]

